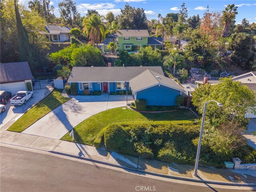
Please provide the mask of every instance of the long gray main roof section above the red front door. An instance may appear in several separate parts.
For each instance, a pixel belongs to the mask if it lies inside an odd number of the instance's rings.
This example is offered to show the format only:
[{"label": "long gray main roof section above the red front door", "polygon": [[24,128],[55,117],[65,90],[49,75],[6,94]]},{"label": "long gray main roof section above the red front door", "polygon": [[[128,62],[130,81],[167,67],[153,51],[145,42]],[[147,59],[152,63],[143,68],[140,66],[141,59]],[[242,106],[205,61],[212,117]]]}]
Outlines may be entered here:
[{"label": "long gray main roof section above the red front door", "polygon": [[130,81],[150,69],[164,75],[161,66],[143,67],[73,67],[68,82],[117,82]]}]

